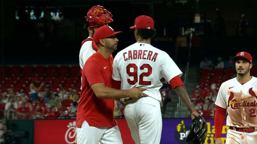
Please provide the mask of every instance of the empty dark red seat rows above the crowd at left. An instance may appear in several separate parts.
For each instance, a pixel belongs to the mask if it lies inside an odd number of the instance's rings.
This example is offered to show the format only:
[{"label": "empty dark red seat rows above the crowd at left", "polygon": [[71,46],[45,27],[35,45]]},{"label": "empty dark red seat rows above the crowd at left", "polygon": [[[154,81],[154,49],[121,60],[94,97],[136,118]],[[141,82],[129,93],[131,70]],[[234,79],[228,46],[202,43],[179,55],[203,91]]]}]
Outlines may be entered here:
[{"label": "empty dark red seat rows above the crowd at left", "polygon": [[[38,78],[39,84],[43,81],[45,85],[50,86],[50,90],[58,92],[60,88],[66,88],[67,91],[76,89],[80,93],[81,78],[79,65],[13,65],[0,66],[0,87],[3,92],[8,88],[14,88],[14,92],[24,87],[26,92],[30,92],[29,85],[33,77]],[[43,91],[44,88],[41,89]]]}]

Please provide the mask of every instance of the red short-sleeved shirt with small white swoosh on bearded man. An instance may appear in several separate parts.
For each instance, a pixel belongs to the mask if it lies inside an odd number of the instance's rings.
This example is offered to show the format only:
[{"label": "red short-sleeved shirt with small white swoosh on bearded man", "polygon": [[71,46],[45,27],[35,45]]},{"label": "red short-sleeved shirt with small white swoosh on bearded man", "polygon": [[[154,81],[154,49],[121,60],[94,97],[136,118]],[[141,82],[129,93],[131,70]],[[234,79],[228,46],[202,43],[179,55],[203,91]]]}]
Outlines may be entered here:
[{"label": "red short-sleeved shirt with small white swoosh on bearded man", "polygon": [[86,61],[82,70],[82,90],[77,109],[76,125],[81,128],[86,120],[93,127],[114,127],[114,100],[96,97],[90,85],[104,83],[112,87],[113,57],[104,58],[96,52]]}]

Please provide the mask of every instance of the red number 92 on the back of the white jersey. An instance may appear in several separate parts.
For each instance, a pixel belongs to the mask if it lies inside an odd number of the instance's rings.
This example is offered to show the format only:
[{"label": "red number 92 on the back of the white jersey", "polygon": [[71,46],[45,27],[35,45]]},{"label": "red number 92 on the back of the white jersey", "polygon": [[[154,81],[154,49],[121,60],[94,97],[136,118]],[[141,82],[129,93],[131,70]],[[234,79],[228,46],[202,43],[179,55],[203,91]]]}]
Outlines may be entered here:
[{"label": "red number 92 on the back of the white jersey", "polygon": [[[130,71],[130,68],[133,68],[133,72]],[[152,74],[152,67],[149,64],[143,64],[142,66],[140,66],[140,70],[144,70],[145,68],[147,68],[147,72],[144,72],[139,75],[139,84],[140,85],[151,85],[151,81],[144,81],[143,77],[148,77]],[[130,85],[136,84],[138,81],[136,64],[128,64],[126,69],[127,69],[128,76],[131,76],[134,79],[132,81],[131,79],[128,78],[127,79],[128,83]]]}]

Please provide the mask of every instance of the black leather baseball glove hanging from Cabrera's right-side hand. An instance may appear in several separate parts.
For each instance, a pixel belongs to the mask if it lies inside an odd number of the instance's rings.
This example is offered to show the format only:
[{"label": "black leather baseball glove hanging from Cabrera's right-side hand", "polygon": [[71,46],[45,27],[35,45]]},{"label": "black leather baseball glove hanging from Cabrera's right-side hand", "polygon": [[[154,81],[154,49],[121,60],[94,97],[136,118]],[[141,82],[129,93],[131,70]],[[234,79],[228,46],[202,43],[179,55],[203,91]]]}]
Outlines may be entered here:
[{"label": "black leather baseball glove hanging from Cabrera's right-side hand", "polygon": [[207,136],[207,126],[204,118],[199,115],[191,121],[186,142],[189,144],[203,144]]}]

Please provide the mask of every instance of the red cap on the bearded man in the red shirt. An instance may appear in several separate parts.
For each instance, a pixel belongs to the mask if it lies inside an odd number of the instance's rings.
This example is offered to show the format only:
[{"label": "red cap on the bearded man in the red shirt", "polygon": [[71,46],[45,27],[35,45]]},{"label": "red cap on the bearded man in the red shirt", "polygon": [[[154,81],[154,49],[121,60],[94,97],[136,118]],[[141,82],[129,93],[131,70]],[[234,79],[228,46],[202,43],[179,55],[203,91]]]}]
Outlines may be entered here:
[{"label": "red cap on the bearded man in the red shirt", "polygon": [[100,39],[104,39],[106,37],[113,36],[113,35],[116,35],[118,33],[122,33],[122,32],[114,32],[113,28],[110,27],[110,26],[99,27],[95,31],[95,34],[93,36],[94,42],[97,44]]}]

